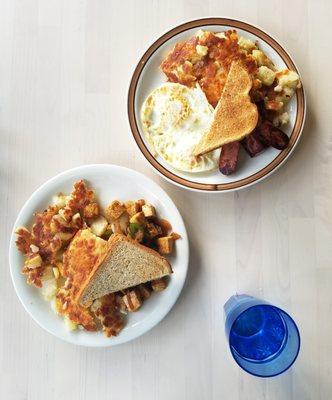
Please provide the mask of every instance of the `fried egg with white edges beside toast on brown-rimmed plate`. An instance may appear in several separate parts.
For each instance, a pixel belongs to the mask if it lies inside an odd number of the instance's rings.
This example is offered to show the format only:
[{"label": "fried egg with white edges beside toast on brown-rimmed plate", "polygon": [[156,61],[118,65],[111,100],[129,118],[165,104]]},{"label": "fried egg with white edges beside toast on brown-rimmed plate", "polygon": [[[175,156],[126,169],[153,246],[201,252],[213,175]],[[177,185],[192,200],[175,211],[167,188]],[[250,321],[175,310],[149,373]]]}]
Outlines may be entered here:
[{"label": "fried egg with white edges beside toast on brown-rimmed plate", "polygon": [[141,110],[143,130],[155,153],[186,172],[209,171],[218,165],[218,150],[192,155],[212,118],[213,108],[198,85],[164,83],[151,92]]}]

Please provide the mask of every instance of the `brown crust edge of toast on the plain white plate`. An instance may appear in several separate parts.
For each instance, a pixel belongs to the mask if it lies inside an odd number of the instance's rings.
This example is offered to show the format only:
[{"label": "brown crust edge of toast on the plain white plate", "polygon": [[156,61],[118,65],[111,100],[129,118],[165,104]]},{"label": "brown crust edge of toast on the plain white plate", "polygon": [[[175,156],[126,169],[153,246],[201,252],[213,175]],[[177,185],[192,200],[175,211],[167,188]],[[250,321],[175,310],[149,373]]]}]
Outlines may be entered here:
[{"label": "brown crust edge of toast on the plain white plate", "polygon": [[[103,261],[106,259],[107,256],[110,255],[110,253],[116,248],[116,246],[121,243],[121,242],[129,242],[132,245],[140,248],[141,250],[150,253],[151,255],[159,258],[160,260],[165,262],[165,266],[168,269],[168,272],[171,274],[173,273],[172,267],[170,265],[170,263],[166,260],[166,258],[162,257],[158,252],[156,252],[153,249],[150,249],[149,247],[143,246],[140,243],[137,243],[135,240],[133,240],[130,237],[127,237],[123,234],[120,233],[116,233],[114,235],[112,235],[108,242],[107,242],[107,249],[106,251],[99,257],[98,261],[96,262],[94,268],[92,269],[92,271],[89,273],[89,275],[86,277],[86,279],[84,280],[84,282],[82,283],[80,290],[77,293],[76,296],[76,301],[78,303],[81,303],[81,299],[84,296],[85,290],[88,288],[89,283],[93,280],[96,272],[98,271],[99,267],[101,266],[101,264],[103,263]],[[88,306],[88,305],[84,305],[83,306]]]}]

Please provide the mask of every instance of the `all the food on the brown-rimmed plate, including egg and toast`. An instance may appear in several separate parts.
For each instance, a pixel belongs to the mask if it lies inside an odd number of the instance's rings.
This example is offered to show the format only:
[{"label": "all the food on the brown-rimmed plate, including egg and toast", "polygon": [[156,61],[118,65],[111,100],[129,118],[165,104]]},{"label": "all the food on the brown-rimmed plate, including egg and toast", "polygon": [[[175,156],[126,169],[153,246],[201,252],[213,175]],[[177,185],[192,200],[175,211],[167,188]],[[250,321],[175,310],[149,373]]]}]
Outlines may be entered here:
[{"label": "all the food on the brown-rimmed plate, including egg and toast", "polygon": [[149,144],[174,168],[209,171],[218,166],[218,154],[228,175],[241,147],[254,157],[269,146],[288,146],[281,127],[289,122],[286,107],[300,79],[295,71],[277,70],[257,41],[235,30],[199,30],[177,43],[160,67],[168,83],[148,96],[141,120]]}]

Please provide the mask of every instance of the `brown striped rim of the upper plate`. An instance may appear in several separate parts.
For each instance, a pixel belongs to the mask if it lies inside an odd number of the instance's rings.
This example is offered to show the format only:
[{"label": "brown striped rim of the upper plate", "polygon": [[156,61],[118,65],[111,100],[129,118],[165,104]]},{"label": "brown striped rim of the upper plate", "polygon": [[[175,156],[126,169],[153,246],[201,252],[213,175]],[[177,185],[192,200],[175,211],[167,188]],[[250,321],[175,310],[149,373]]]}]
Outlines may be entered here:
[{"label": "brown striped rim of the upper plate", "polygon": [[227,191],[227,190],[234,190],[245,187],[250,185],[251,183],[261,180],[262,178],[269,175],[273,170],[275,170],[281,163],[286,159],[289,153],[294,149],[297,141],[300,138],[303,125],[304,125],[304,117],[305,117],[305,97],[304,97],[304,90],[301,87],[296,91],[296,99],[297,99],[297,113],[296,113],[296,120],[290,135],[290,141],[287,149],[281,151],[276,158],[274,158],[268,165],[266,165],[260,171],[246,177],[243,179],[239,179],[234,182],[230,183],[222,183],[222,184],[208,184],[208,183],[198,183],[193,182],[188,179],[182,178],[173,172],[170,172],[165,167],[163,167],[156,158],[152,155],[148,147],[145,145],[141,134],[138,129],[137,121],[136,121],[136,114],[135,114],[135,96],[136,96],[136,88],[137,84],[141,75],[141,72],[146,64],[146,62],[150,59],[153,53],[162,46],[165,42],[171,39],[173,36],[182,33],[186,30],[192,28],[199,28],[205,25],[226,25],[231,28],[242,29],[247,31],[259,39],[262,39],[266,43],[268,43],[282,58],[284,63],[287,65],[287,68],[292,69],[298,72],[296,66],[294,65],[291,57],[287,54],[287,52],[281,47],[281,45],[269,36],[267,33],[263,32],[261,29],[256,28],[246,22],[237,21],[229,18],[202,18],[190,22],[186,22],[182,25],[177,26],[176,28],[171,29],[164,35],[162,35],[159,39],[157,39],[149,49],[143,54],[142,58],[140,59],[138,65],[135,68],[133,73],[129,92],[128,92],[128,117],[129,117],[129,124],[131,127],[131,131],[133,133],[134,139],[143,153],[144,157],[149,161],[149,163],[165,178],[181,185],[187,187],[189,189],[196,189],[196,190],[203,190],[203,191]]}]

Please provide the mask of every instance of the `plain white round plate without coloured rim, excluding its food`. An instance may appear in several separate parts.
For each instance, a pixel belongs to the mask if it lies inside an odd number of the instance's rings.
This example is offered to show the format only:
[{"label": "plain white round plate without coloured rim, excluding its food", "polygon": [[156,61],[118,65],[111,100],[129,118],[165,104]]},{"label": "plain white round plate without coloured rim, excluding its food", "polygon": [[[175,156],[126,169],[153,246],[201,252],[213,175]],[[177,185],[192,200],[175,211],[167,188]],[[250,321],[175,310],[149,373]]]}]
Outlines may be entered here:
[{"label": "plain white round plate without coloured rim, excluding its food", "polygon": [[[45,209],[56,193],[70,193],[73,183],[84,179],[95,191],[105,207],[114,199],[122,201],[144,198],[155,205],[159,215],[167,219],[175,232],[182,236],[176,242],[175,255],[169,258],[174,273],[167,289],[153,294],[136,313],[129,314],[119,336],[104,337],[102,332],[76,330],[68,332],[62,317],[56,315],[49,302],[43,300],[40,290],[26,283],[21,274],[23,255],[16,249],[15,228],[30,227],[32,215]],[[83,346],[106,347],[125,343],[153,328],[170,311],[184,285],[189,259],[187,232],[182,217],[168,195],[153,181],[128,168],[115,165],[87,165],[65,171],[44,183],[25,203],[15,222],[9,248],[10,272],[16,294],[30,316],[46,331],[67,342]],[[176,329],[176,327],[174,327]]]}]

